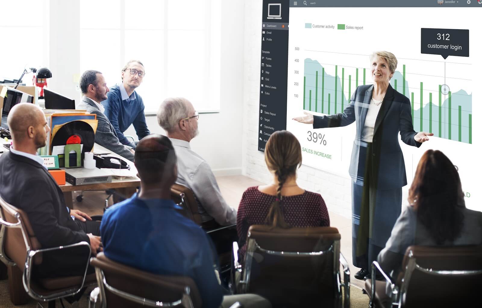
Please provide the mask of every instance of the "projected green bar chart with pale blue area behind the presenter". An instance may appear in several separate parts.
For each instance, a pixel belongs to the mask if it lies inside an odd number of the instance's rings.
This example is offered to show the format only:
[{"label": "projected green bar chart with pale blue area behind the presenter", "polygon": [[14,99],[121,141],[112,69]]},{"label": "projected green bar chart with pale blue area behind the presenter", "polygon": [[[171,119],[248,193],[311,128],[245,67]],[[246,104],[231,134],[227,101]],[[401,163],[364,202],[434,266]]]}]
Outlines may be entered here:
[{"label": "projected green bar chart with pale blue area behind the presenter", "polygon": [[[402,69],[395,71],[390,85],[410,100],[415,131],[427,131],[443,139],[472,143],[471,93],[464,89],[448,90],[444,85],[446,78],[432,76],[430,72],[415,74],[417,81],[412,81],[410,66],[400,63],[398,67]],[[359,85],[372,84],[369,76],[369,68],[325,64],[306,58],[303,109],[325,115],[342,113]],[[419,81],[424,77],[429,79],[426,82],[429,87],[424,88],[424,81]]]}]

